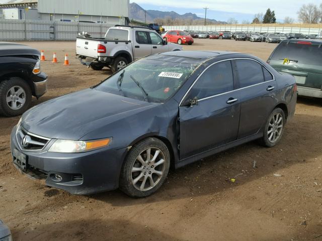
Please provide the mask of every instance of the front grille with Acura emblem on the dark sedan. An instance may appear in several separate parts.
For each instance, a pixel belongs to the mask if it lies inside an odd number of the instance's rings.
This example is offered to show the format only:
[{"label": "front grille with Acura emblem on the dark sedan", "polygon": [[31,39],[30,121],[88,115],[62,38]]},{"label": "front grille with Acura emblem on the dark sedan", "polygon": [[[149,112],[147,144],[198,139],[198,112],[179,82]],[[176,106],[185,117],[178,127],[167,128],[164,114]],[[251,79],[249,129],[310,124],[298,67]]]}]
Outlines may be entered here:
[{"label": "front grille with Acura emblem on the dark sedan", "polygon": [[23,150],[40,151],[44,149],[50,139],[31,134],[20,125],[17,130],[17,141]]}]

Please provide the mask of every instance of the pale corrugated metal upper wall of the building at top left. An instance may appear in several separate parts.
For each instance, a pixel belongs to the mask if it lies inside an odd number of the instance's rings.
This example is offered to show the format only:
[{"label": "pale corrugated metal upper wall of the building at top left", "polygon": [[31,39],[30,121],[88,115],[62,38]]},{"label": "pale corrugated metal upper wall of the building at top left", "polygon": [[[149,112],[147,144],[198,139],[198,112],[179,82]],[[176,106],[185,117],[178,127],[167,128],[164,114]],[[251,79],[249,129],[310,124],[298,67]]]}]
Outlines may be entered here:
[{"label": "pale corrugated metal upper wall of the building at top left", "polygon": [[38,12],[129,17],[129,0],[38,0]]}]

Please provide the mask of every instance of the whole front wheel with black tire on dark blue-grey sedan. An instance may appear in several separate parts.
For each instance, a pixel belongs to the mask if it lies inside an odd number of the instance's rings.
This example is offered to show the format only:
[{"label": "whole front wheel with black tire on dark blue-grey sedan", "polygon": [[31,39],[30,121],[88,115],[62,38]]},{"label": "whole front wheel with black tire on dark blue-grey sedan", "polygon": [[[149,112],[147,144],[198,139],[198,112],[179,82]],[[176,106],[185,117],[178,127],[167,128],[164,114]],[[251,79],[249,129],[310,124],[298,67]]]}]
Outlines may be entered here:
[{"label": "whole front wheel with black tire on dark blue-grey sedan", "polygon": [[[147,150],[150,149],[150,158],[155,155],[156,151],[159,151],[156,163],[159,163],[162,159],[163,163],[153,167],[154,161],[147,161]],[[139,156],[142,157],[139,161]],[[136,168],[138,171],[132,172],[132,169]],[[157,169],[156,169],[157,168]],[[141,169],[141,170],[140,170]],[[131,197],[146,197],[156,192],[162,184],[165,182],[170,169],[170,153],[167,146],[157,138],[149,137],[141,142],[135,144],[126,156],[120,173],[119,188]],[[145,171],[146,170],[146,171]],[[155,174],[154,171],[158,171]],[[153,184],[151,183],[151,179]],[[143,181],[144,186],[143,185]],[[135,182],[135,183],[134,183]],[[151,186],[153,185],[153,186]]]}]

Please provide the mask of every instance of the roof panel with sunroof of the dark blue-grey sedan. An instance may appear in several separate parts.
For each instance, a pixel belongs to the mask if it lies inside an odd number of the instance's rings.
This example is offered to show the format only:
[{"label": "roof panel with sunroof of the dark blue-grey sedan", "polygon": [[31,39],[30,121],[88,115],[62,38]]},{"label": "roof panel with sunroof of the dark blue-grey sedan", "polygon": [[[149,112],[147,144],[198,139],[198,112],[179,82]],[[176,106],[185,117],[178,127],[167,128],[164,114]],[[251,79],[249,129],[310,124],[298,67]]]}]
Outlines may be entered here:
[{"label": "roof panel with sunroof of the dark blue-grey sedan", "polygon": [[162,60],[176,63],[187,63],[187,64],[201,64],[212,58],[227,55],[227,54],[240,54],[229,51],[172,51],[159,54],[153,54],[147,59]]}]

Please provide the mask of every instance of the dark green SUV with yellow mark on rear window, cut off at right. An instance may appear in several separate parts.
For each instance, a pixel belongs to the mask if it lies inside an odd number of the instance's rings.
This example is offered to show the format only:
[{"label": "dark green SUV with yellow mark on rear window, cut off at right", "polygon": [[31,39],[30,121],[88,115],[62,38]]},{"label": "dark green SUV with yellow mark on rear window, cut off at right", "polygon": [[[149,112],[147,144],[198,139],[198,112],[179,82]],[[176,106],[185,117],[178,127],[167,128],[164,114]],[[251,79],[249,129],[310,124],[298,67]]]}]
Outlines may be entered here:
[{"label": "dark green SUV with yellow mark on rear window, cut off at right", "polygon": [[322,98],[322,40],[283,40],[267,63],[295,77],[298,95]]}]

